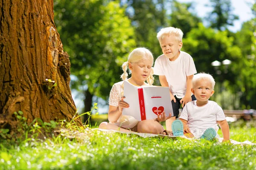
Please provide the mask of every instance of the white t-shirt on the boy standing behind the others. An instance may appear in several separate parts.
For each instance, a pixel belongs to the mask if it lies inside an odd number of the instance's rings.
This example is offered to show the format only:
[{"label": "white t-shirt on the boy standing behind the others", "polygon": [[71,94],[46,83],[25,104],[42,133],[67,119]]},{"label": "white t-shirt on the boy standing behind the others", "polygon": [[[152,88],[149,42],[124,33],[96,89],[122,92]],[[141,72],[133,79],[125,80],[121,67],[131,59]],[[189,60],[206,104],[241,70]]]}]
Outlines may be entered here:
[{"label": "white t-shirt on the boy standing behind the others", "polygon": [[170,61],[164,54],[160,55],[154,64],[154,74],[165,76],[173,96],[183,98],[186,94],[187,76],[196,74],[195,63],[192,57],[180,51],[175,61]]}]

